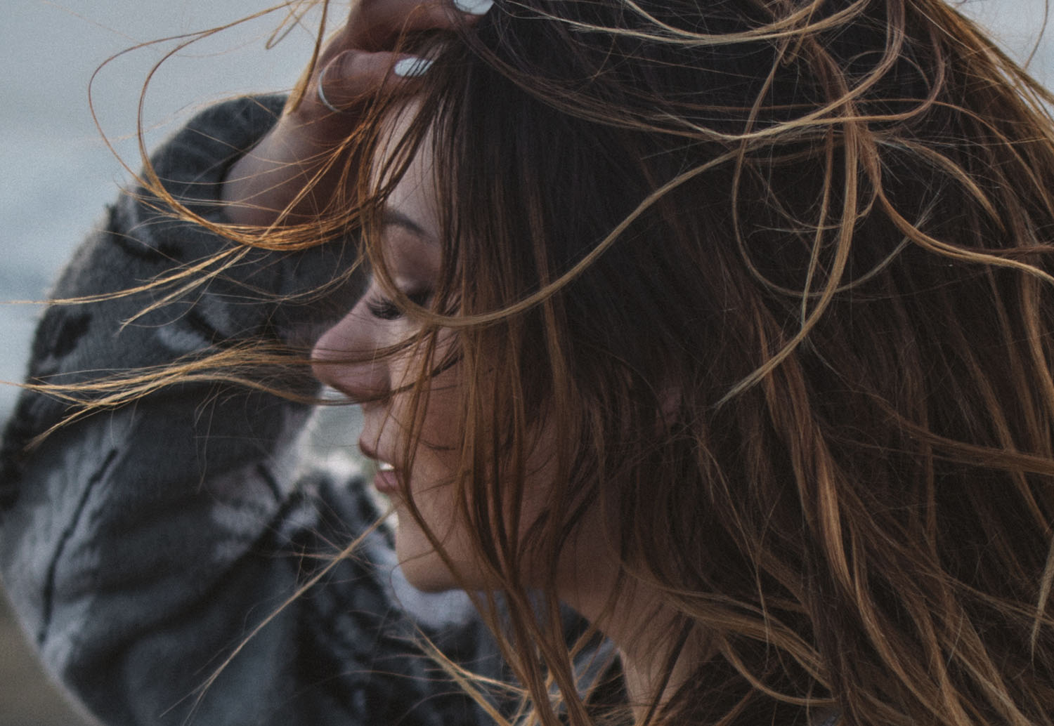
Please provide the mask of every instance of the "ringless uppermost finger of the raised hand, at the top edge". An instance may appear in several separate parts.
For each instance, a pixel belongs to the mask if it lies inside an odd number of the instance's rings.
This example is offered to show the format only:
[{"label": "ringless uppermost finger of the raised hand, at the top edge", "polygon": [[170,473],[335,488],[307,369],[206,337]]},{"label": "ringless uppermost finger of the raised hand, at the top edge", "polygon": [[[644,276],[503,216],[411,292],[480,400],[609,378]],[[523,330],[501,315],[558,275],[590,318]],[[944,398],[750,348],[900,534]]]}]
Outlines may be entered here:
[{"label": "ringless uppermost finger of the raised hand, at the top edge", "polygon": [[405,33],[452,31],[484,15],[493,0],[363,0],[346,28],[350,47],[391,50]]}]

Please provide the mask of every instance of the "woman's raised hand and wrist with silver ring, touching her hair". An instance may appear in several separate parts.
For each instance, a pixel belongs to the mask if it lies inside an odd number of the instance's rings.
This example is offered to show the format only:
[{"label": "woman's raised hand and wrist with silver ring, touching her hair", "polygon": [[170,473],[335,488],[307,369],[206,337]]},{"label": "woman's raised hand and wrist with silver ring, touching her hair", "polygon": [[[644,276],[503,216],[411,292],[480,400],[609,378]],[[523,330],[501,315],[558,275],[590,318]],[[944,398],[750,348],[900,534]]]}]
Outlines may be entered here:
[{"label": "woman's raised hand and wrist with silver ring, touching her hair", "polygon": [[[334,150],[377,93],[412,94],[428,61],[393,52],[398,38],[418,31],[453,30],[472,22],[491,0],[360,0],[348,22],[323,50],[295,107],[236,161],[223,183],[228,218],[267,227],[318,176]],[[289,209],[289,222],[305,222],[328,203],[340,164],[311,183]]]}]

